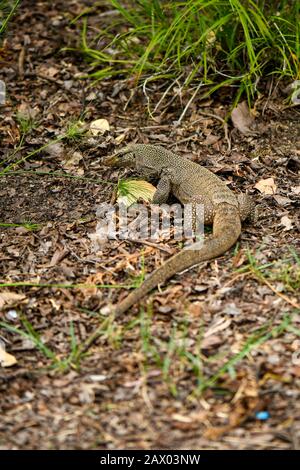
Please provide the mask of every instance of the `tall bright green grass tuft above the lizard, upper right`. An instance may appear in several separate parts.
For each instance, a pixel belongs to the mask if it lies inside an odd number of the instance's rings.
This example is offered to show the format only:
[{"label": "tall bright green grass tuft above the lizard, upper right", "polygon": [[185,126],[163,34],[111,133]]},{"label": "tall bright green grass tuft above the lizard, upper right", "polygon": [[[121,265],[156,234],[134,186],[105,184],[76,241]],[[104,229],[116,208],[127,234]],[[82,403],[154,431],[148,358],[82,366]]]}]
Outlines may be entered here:
[{"label": "tall bright green grass tuft above the lizard, upper right", "polygon": [[[115,15],[89,30],[83,21],[82,54],[94,67],[90,77],[115,75],[200,82],[203,96],[235,87],[248,100],[260,79],[299,79],[299,3],[261,0],[188,0],[139,2],[110,0]],[[101,18],[101,23],[103,20]],[[101,24],[99,21],[99,24]],[[91,32],[93,31],[93,32]],[[178,82],[174,84],[178,86]]]}]

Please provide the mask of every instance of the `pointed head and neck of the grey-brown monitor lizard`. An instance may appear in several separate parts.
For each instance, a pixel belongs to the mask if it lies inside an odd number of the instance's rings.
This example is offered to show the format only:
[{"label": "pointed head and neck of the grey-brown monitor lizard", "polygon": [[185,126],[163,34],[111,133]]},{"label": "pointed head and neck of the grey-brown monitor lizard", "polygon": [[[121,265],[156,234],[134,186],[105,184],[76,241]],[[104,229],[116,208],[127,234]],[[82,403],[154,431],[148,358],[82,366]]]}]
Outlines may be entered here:
[{"label": "pointed head and neck of the grey-brown monitor lizard", "polygon": [[112,167],[131,168],[148,178],[159,176],[164,161],[155,151],[151,152],[152,145],[132,144],[124,147],[114,155],[103,160],[104,165]]}]

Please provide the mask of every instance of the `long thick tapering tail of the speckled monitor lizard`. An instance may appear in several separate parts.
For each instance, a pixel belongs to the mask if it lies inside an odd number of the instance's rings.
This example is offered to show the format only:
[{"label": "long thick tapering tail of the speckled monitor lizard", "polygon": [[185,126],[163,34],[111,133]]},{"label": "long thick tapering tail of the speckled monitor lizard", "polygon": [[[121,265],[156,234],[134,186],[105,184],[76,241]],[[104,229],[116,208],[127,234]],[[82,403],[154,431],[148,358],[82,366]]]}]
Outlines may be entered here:
[{"label": "long thick tapering tail of the speckled monitor lizard", "polygon": [[[162,266],[153,271],[140,287],[131,292],[116,308],[116,315],[126,312],[133,304],[141,300],[152,289],[163,284],[174,274],[184,271],[195,264],[222,255],[234,245],[241,233],[241,220],[238,210],[231,205],[222,204],[215,212],[213,236],[199,249],[191,245],[169,258]],[[198,243],[197,243],[198,245]]]}]

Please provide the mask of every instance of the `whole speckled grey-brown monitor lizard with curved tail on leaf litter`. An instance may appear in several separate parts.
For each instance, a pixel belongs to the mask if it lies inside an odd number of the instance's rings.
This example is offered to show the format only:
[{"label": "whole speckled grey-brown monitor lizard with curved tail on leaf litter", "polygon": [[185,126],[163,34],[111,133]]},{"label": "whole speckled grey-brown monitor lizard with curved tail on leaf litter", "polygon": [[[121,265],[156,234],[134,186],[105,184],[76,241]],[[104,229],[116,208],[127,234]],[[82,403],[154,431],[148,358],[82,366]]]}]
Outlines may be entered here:
[{"label": "whole speckled grey-brown monitor lizard with curved tail on leaf litter", "polygon": [[170,193],[182,204],[203,204],[204,222],[213,225],[212,237],[202,247],[192,249],[196,247],[193,245],[168,259],[115,307],[117,315],[126,312],[174,274],[222,255],[235,244],[241,233],[241,221],[251,216],[254,210],[249,196],[236,196],[214,173],[160,146],[129,145],[107,157],[104,164],[133,168],[146,178],[158,177],[153,197],[155,204],[165,203]]}]

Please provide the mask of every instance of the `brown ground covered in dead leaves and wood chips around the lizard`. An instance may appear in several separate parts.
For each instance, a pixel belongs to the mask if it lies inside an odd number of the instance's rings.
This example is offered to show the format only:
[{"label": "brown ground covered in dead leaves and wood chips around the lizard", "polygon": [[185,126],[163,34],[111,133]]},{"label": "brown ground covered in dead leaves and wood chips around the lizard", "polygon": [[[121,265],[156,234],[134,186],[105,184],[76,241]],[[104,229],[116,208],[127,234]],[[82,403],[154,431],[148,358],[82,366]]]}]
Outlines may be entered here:
[{"label": "brown ground covered in dead leaves and wood chips around the lizard", "polygon": [[[36,150],[0,180],[0,222],[16,224],[0,227],[0,344],[17,360],[0,367],[0,448],[299,449],[299,106],[287,106],[281,84],[270,89],[255,135],[229,122],[230,151],[214,118],[228,112],[230,90],[196,97],[178,126],[187,91],[150,118],[147,98],[154,108],[165,88],[145,96],[130,80],[79,78],[89,65],[61,49],[79,35],[69,12],[88,2],[68,3],[23,1],[0,62],[0,170]],[[18,112],[36,122],[21,146]],[[99,118],[104,135],[38,151],[70,123]],[[143,260],[151,272],[179,249],[173,240],[93,249],[107,183],[129,176],[101,159],[128,142],[201,163],[252,194],[258,220],[235,248],[114,320],[99,311],[126,296],[118,286]],[[271,194],[258,184],[268,178]]]}]

